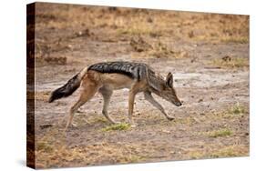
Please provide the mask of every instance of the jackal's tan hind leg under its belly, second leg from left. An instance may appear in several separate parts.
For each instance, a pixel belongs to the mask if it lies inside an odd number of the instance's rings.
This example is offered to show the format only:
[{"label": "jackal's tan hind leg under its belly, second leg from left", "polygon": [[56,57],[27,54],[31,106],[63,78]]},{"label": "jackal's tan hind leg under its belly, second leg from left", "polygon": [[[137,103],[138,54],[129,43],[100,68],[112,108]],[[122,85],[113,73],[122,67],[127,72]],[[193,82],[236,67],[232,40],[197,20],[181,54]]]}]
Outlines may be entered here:
[{"label": "jackal's tan hind leg under its belly, second leg from left", "polygon": [[110,116],[108,116],[108,106],[109,106],[109,102],[110,102],[110,98],[113,94],[112,90],[109,90],[107,88],[100,88],[98,90],[100,92],[100,94],[103,96],[103,109],[102,109],[102,114],[108,119],[109,122],[111,122],[112,124],[118,124],[118,122],[115,122]]}]

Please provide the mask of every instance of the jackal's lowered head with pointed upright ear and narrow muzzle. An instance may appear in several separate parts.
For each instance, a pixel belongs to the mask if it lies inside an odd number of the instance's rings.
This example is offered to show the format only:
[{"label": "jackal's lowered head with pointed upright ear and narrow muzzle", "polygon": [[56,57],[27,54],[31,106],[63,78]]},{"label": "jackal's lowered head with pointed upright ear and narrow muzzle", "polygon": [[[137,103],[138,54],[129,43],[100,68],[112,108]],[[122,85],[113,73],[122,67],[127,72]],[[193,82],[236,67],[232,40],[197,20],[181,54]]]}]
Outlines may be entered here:
[{"label": "jackal's lowered head with pointed upright ear and narrow muzzle", "polygon": [[159,96],[162,96],[175,106],[182,105],[173,87],[173,75],[171,73],[166,76],[165,84],[162,86],[162,91],[159,92]]}]

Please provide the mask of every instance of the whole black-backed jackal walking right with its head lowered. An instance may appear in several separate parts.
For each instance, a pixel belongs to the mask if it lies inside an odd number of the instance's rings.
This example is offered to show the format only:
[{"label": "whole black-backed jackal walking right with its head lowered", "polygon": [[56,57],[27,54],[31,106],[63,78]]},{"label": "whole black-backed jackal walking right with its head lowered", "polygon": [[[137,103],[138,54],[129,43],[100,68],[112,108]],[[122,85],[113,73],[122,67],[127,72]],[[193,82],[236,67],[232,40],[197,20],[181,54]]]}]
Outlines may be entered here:
[{"label": "whole black-backed jackal walking right with its head lowered", "polygon": [[66,85],[52,92],[49,103],[58,98],[72,95],[78,87],[81,88],[81,94],[77,103],[70,109],[66,128],[71,124],[77,109],[84,105],[97,92],[99,92],[104,99],[102,113],[111,123],[116,122],[108,116],[108,105],[113,90],[117,89],[129,89],[128,119],[132,126],[134,126],[132,120],[134,99],[139,92],[143,92],[145,99],[153,106],[157,107],[169,120],[174,119],[174,117],[169,116],[165,112],[164,108],[153,98],[151,93],[168,100],[175,106],[181,106],[181,102],[173,87],[173,75],[169,73],[164,80],[164,78],[156,74],[150,66],[143,63],[107,62],[90,65],[73,76]]}]

